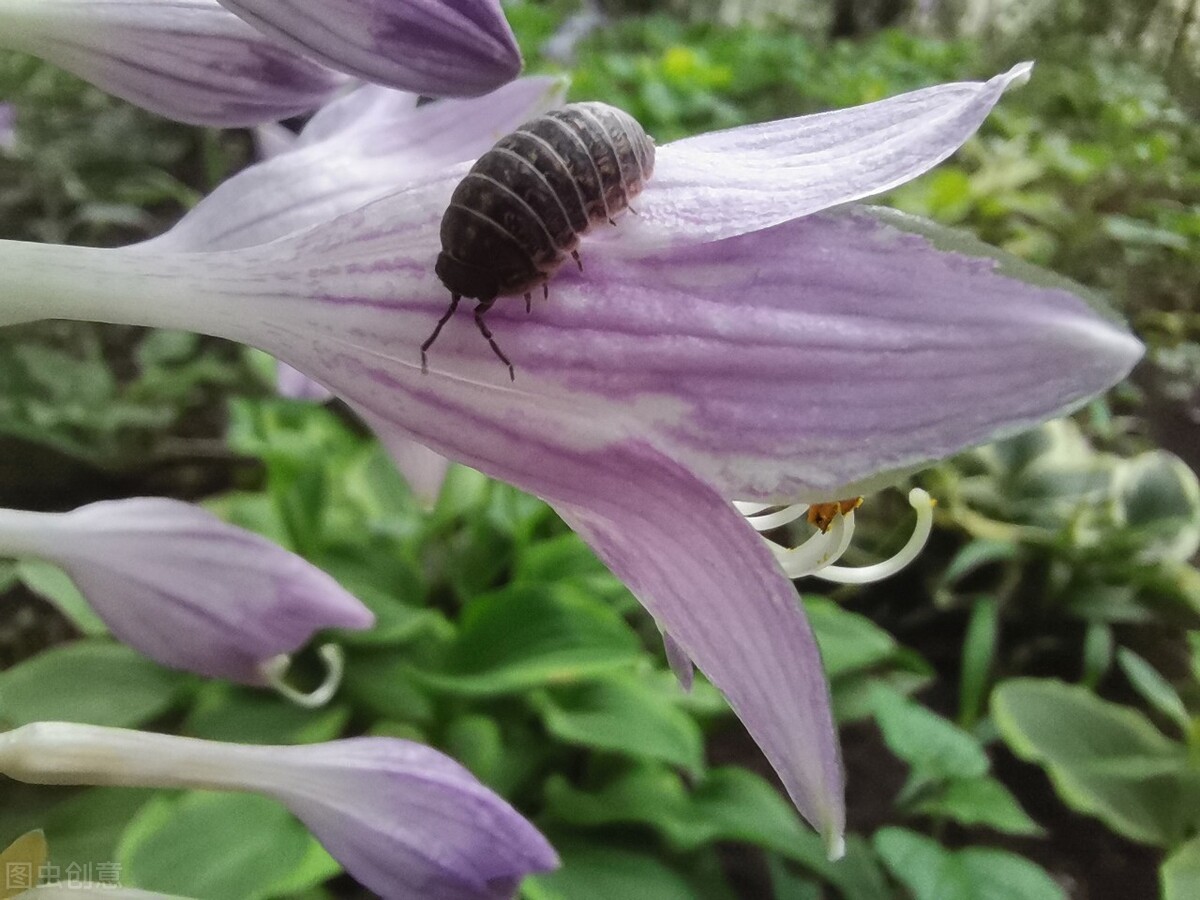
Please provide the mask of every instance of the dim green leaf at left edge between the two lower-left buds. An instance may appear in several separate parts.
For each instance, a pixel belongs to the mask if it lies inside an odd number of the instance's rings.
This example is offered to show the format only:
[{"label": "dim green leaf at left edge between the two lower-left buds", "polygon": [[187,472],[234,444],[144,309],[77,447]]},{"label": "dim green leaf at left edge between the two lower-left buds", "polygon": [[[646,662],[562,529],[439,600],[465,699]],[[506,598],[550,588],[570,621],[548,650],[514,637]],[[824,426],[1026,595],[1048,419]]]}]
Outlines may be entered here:
[{"label": "dim green leaf at left edge between the two lower-left buds", "polygon": [[128,728],[170,709],[190,683],[122,644],[76,641],[0,673],[0,719]]}]

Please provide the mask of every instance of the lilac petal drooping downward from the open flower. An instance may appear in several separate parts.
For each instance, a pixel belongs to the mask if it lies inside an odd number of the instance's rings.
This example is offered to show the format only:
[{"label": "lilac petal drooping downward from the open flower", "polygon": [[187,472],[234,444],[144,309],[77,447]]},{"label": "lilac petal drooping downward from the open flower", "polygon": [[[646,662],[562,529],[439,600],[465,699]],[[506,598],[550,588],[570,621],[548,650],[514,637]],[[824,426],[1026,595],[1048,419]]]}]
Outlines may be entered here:
[{"label": "lilac petal drooping downward from the open flower", "polygon": [[[840,856],[844,779],[821,654],[758,535],[710,487],[646,448],[607,448],[569,467],[539,456],[557,469],[558,494],[575,494],[550,496],[558,514],[726,696]],[[570,470],[587,486],[563,490]]]}]

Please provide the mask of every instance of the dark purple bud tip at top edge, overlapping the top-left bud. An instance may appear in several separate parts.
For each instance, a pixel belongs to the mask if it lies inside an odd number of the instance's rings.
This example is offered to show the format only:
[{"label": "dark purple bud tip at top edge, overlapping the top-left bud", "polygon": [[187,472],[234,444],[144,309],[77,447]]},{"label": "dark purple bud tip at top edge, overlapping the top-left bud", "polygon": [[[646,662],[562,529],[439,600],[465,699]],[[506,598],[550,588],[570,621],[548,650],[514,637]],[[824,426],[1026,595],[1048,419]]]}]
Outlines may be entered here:
[{"label": "dark purple bud tip at top edge, overlapping the top-left bud", "polygon": [[475,97],[521,72],[499,0],[220,0],[265,35],[366,82]]}]

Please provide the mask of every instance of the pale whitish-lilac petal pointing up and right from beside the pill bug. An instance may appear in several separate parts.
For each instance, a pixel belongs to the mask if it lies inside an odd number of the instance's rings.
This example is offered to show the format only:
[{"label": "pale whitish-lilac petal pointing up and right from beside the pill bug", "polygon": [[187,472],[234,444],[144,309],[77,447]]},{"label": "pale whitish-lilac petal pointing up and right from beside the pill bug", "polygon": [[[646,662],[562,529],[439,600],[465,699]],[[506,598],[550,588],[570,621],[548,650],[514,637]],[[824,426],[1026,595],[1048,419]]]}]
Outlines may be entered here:
[{"label": "pale whitish-lilac petal pointing up and right from beside the pill bug", "polygon": [[655,154],[654,190],[638,197],[638,215],[596,238],[613,252],[640,254],[733,238],[889,191],[958,150],[1031,67],[672,142]]}]

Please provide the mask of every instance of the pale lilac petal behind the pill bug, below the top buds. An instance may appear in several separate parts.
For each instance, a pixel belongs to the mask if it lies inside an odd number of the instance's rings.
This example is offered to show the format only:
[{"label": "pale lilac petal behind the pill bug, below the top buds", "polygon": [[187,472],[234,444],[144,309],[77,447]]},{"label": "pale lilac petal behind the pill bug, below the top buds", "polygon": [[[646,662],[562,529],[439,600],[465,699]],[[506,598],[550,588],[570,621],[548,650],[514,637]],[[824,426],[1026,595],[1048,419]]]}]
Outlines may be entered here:
[{"label": "pale lilac petal behind the pill bug, below the top buds", "polygon": [[474,158],[557,106],[564,90],[558,78],[521,78],[486,97],[416,108],[408,95],[360,88],[337,101],[344,114],[314,118],[317,131],[302,132],[293,151],[238,173],[169,232],[131,250],[232,250],[325,222]]}]

